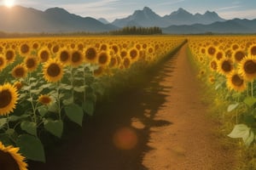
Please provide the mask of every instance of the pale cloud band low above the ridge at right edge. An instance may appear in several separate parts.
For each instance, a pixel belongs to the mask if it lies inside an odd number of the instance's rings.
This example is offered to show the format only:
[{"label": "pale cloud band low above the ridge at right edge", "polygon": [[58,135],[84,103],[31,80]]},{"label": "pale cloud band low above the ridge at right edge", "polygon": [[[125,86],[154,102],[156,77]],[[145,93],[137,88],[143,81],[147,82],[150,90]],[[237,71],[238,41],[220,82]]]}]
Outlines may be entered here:
[{"label": "pale cloud band low above the ridge at right edge", "polygon": [[[256,9],[240,10],[240,11],[223,11],[218,13],[224,19],[255,19]],[[234,17],[235,16],[235,17]]]}]

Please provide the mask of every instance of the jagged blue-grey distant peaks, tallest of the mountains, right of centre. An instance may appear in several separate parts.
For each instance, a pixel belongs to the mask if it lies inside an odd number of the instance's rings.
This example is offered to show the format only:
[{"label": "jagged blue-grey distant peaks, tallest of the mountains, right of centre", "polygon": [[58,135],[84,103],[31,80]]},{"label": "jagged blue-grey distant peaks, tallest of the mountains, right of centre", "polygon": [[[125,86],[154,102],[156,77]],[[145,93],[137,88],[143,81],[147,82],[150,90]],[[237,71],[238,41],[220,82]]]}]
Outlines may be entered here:
[{"label": "jagged blue-grey distant peaks, tallest of the mountains, right of centre", "polygon": [[133,14],[124,19],[117,19],[112,22],[114,26],[173,26],[192,24],[212,24],[213,22],[224,21],[217,13],[207,11],[205,14],[190,14],[183,8],[161,17],[155,14],[151,8],[136,10]]}]

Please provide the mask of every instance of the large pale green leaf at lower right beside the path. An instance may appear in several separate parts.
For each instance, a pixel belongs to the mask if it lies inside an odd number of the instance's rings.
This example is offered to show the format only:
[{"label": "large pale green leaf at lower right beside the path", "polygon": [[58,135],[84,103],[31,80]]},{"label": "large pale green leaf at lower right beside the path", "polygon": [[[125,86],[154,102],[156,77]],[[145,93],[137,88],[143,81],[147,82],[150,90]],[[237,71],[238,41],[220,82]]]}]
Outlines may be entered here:
[{"label": "large pale green leaf at lower right beside the path", "polygon": [[236,125],[232,132],[230,134],[228,134],[228,136],[230,138],[241,138],[243,140],[243,142],[249,146],[254,139],[254,133],[251,130],[250,127],[247,127],[247,125],[245,124],[238,124]]}]

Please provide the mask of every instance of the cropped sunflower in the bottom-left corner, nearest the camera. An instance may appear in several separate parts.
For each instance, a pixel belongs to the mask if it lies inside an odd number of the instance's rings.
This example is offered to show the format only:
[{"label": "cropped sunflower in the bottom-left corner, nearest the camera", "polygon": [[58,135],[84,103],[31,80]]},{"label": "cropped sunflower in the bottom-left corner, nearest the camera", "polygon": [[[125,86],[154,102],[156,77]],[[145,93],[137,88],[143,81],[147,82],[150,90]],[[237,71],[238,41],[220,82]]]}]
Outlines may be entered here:
[{"label": "cropped sunflower in the bottom-left corner, nearest the camera", "polygon": [[0,169],[1,170],[27,170],[25,157],[21,156],[18,151],[20,148],[13,146],[5,147],[0,142]]}]

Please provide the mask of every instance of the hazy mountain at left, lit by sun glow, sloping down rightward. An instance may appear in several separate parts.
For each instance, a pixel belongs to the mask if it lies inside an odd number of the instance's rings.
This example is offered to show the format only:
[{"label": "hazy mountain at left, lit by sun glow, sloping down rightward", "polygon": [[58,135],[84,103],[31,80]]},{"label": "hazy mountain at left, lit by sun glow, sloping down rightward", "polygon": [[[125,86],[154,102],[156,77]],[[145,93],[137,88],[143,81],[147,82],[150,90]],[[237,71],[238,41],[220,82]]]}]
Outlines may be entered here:
[{"label": "hazy mountain at left, lit by sun glow, sloping down rightward", "polygon": [[90,17],[70,14],[63,8],[49,8],[43,12],[21,6],[13,8],[1,6],[0,20],[2,23],[0,31],[11,32],[100,32],[117,29],[116,26],[104,25]]}]

